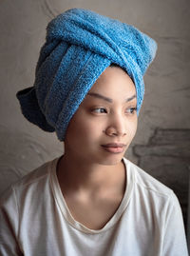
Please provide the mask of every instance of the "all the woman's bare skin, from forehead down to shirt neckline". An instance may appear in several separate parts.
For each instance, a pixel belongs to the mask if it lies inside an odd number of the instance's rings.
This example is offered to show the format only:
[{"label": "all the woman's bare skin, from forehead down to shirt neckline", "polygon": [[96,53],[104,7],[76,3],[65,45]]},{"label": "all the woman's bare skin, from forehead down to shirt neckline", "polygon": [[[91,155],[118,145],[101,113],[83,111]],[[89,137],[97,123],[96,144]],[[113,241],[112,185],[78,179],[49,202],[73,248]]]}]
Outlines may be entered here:
[{"label": "all the woman's bare skin, from forehead down to shirt neckline", "polygon": [[[65,154],[57,176],[73,218],[91,229],[102,228],[123,200],[123,155],[137,129],[136,90],[123,69],[105,69],[71,119]],[[97,95],[94,95],[98,94]],[[99,95],[106,98],[101,99]],[[126,100],[127,99],[127,100]],[[123,144],[121,151],[107,148]]]}]

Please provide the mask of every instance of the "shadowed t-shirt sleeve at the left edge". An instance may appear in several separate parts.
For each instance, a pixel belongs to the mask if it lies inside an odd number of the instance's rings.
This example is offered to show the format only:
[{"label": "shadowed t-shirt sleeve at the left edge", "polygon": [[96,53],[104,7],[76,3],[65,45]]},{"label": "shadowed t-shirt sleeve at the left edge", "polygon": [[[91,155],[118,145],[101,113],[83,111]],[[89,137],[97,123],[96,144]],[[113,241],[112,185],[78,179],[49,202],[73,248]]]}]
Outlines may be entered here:
[{"label": "shadowed t-shirt sleeve at the left edge", "polygon": [[18,207],[15,191],[10,188],[0,199],[0,255],[22,256],[17,240]]}]

